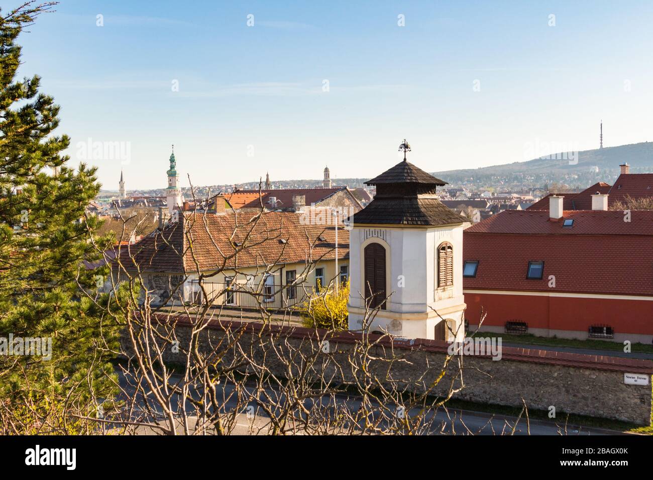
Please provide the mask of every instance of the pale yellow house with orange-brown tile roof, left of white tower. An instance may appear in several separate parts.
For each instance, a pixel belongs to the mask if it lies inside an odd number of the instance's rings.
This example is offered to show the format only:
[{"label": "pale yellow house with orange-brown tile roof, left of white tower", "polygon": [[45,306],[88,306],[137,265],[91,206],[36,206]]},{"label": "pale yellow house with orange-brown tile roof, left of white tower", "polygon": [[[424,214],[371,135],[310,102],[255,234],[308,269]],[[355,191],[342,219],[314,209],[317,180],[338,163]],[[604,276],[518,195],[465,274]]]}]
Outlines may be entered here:
[{"label": "pale yellow house with orange-brown tile roof, left of white tower", "polygon": [[[152,304],[293,306],[319,284],[349,278],[342,218],[303,212],[178,212],[112,264],[114,281],[140,276]],[[336,244],[336,234],[338,242]]]}]

